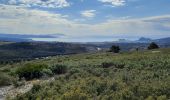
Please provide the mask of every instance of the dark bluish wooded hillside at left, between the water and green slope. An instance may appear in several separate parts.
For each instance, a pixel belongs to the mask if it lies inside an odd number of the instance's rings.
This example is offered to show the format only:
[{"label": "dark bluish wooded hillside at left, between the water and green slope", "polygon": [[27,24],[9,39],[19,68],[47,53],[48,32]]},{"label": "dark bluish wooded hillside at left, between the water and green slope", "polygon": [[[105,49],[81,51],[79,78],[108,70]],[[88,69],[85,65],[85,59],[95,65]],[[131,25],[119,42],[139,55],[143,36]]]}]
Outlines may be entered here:
[{"label": "dark bluish wooded hillside at left, between the water and green slope", "polygon": [[78,44],[60,42],[17,42],[0,45],[0,61],[20,61],[40,57],[87,52]]}]

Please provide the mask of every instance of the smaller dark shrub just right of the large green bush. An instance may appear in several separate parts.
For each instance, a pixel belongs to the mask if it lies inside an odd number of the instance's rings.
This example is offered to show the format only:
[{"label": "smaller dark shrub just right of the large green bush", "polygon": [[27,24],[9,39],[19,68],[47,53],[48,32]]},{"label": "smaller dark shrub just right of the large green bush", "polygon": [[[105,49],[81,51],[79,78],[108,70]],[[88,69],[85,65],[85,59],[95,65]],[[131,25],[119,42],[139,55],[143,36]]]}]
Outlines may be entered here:
[{"label": "smaller dark shrub just right of the large green bush", "polygon": [[51,71],[54,74],[64,74],[67,72],[67,66],[65,65],[54,65],[51,67]]}]

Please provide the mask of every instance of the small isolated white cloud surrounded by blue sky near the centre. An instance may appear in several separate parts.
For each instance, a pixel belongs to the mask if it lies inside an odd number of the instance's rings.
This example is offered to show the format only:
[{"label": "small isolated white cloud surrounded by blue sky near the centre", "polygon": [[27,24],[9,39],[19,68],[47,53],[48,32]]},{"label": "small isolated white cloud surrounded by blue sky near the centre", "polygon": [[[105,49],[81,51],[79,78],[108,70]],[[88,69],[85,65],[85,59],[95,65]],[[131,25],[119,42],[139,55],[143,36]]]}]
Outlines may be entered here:
[{"label": "small isolated white cloud surrounded by blue sky near the centre", "polygon": [[87,18],[93,18],[96,16],[96,10],[85,10],[81,12],[81,15],[83,17],[87,17]]}]

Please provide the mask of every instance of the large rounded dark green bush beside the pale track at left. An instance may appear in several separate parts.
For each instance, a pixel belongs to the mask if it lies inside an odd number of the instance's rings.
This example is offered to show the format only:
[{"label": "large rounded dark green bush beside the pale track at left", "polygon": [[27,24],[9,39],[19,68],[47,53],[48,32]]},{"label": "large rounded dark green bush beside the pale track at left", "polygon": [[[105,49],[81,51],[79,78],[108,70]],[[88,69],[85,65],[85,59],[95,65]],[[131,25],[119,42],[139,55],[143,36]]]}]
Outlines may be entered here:
[{"label": "large rounded dark green bush beside the pale track at left", "polygon": [[47,67],[45,64],[25,64],[16,70],[16,74],[20,79],[25,78],[26,80],[31,80],[40,78],[43,76],[42,70]]}]

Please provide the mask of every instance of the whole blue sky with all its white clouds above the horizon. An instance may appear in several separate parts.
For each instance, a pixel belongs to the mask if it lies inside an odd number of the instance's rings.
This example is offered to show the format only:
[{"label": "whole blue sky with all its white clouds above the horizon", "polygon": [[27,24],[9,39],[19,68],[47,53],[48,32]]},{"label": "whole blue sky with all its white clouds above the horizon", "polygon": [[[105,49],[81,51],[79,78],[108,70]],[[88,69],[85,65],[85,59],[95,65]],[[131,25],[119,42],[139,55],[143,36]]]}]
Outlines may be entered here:
[{"label": "whole blue sky with all its white clouds above the horizon", "polygon": [[53,40],[65,42],[170,37],[170,0],[0,0],[0,33],[63,34]]}]

